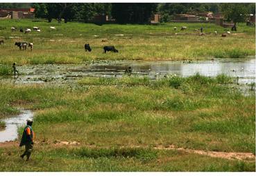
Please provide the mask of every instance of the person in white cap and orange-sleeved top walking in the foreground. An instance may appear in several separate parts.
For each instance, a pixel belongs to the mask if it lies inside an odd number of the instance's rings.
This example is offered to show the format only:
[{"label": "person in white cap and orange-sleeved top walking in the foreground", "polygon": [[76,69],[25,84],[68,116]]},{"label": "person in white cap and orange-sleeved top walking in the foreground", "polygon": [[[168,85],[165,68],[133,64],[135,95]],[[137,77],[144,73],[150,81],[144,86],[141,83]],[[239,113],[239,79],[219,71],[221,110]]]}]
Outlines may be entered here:
[{"label": "person in white cap and orange-sleeved top walking in the foreground", "polygon": [[32,119],[27,119],[26,121],[27,121],[26,127],[24,128],[24,131],[22,134],[22,141],[20,142],[19,146],[20,147],[25,146],[25,152],[22,155],[20,155],[20,157],[24,159],[24,157],[26,156],[26,161],[28,161],[33,151],[35,133],[32,130],[32,124],[33,124]]}]

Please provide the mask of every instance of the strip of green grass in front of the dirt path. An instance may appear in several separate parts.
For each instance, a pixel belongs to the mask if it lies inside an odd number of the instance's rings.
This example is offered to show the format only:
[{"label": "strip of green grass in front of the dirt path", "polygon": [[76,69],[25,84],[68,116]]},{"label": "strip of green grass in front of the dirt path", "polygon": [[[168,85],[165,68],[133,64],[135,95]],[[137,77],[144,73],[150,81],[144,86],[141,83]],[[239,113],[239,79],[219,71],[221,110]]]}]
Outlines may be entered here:
[{"label": "strip of green grass in front of the dirt path", "polygon": [[[123,148],[47,148],[36,146],[31,162],[17,158],[16,148],[1,149],[1,171],[254,171],[253,162],[241,162],[184,153],[178,150]],[[67,164],[68,163],[68,164]],[[65,167],[63,167],[65,166]]]}]

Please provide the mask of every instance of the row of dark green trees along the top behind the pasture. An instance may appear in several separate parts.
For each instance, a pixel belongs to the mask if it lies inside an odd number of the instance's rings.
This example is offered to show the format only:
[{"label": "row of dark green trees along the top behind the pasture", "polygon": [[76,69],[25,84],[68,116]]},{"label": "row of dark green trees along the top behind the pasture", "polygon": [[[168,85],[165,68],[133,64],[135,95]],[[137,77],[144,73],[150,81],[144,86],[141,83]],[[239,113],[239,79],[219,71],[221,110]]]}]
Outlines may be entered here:
[{"label": "row of dark green trees along the top behind the pasture", "polygon": [[89,22],[96,14],[108,15],[117,23],[148,23],[151,14],[161,14],[162,22],[168,22],[176,14],[199,12],[223,12],[228,21],[245,20],[246,14],[255,14],[255,3],[0,3],[0,8],[35,8],[35,17]]}]

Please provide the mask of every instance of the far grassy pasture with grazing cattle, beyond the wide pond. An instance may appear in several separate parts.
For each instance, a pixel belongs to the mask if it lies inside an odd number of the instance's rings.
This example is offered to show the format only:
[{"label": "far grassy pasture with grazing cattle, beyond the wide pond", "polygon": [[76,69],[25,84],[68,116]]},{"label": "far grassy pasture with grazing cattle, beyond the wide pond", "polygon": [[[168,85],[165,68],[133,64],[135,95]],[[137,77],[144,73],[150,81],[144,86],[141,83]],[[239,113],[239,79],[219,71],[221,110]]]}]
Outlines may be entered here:
[{"label": "far grassy pasture with grazing cattle, beyond the wide pond", "polygon": [[[24,34],[19,28],[40,27],[42,32]],[[55,26],[56,30],[49,27]],[[173,27],[187,26],[187,30]],[[194,29],[204,28],[205,36]],[[11,32],[10,28],[18,30]],[[214,31],[218,35],[214,35]],[[18,65],[37,63],[84,63],[95,59],[119,60],[186,60],[255,55],[255,26],[240,23],[238,31],[228,37],[221,33],[230,30],[210,23],[166,23],[148,25],[103,25],[89,23],[46,23],[31,20],[1,20],[0,63]],[[118,36],[123,35],[123,36]],[[102,40],[105,40],[103,42]],[[34,43],[33,52],[20,51],[15,41]],[[92,52],[85,52],[90,43]],[[103,54],[103,46],[115,46],[119,53]]]}]

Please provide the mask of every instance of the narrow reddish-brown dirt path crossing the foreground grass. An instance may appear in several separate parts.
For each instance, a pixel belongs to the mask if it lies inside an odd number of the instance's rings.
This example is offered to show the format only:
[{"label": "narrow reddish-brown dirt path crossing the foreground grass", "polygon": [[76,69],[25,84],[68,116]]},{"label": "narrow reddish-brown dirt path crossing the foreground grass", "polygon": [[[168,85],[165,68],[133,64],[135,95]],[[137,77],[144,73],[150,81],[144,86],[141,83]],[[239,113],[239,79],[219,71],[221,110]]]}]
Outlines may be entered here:
[{"label": "narrow reddish-brown dirt path crossing the foreground grass", "polygon": [[[53,145],[55,147],[60,146],[85,146],[81,145],[78,141],[55,141],[55,142],[35,142],[35,145],[40,144],[49,144]],[[8,141],[4,143],[0,143],[0,148],[9,148],[9,147],[18,147],[19,143],[17,141]],[[97,146],[86,146],[89,148],[99,148]],[[147,148],[147,146],[121,146],[121,148]],[[187,148],[178,148],[176,146],[170,145],[170,146],[155,146],[153,147],[155,150],[181,150],[185,151],[187,153],[196,153],[198,155],[207,155],[210,157],[219,157],[223,159],[239,159],[244,161],[255,161],[255,155],[253,153],[237,153],[237,152],[231,152],[231,153],[225,153],[225,152],[215,152],[215,151],[205,151],[205,150],[193,150],[193,149],[187,149]]]}]

